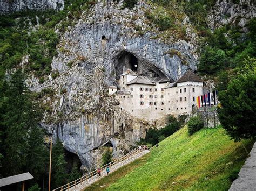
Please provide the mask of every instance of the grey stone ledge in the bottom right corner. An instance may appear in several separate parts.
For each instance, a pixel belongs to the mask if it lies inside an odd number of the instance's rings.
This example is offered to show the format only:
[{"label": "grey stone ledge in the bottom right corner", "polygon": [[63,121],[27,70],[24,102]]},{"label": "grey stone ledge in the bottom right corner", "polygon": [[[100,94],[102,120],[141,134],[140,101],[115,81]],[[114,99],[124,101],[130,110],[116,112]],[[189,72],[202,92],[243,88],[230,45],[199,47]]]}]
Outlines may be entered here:
[{"label": "grey stone ledge in the bottom right corner", "polygon": [[237,180],[232,183],[230,191],[256,190],[256,142],[238,176]]}]

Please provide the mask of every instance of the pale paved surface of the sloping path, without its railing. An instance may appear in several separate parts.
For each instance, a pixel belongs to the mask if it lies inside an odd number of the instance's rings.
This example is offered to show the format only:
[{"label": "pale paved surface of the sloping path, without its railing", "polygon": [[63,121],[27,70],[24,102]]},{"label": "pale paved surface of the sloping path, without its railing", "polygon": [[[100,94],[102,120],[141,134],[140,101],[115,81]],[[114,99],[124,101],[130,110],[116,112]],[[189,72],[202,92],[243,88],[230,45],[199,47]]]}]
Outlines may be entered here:
[{"label": "pale paved surface of the sloping path, without its railing", "polygon": [[[124,165],[129,164],[130,162],[132,162],[132,161],[134,161],[134,160],[136,160],[136,159],[142,157],[144,154],[149,153],[149,152],[150,152],[150,150],[143,150],[143,151],[141,151],[141,152],[139,152],[139,153],[137,153],[137,154],[132,155],[130,158],[127,158],[126,160],[123,160],[122,162],[119,162],[118,164],[116,164],[116,165],[114,165],[114,166],[111,166],[111,167],[110,167],[110,173],[116,171],[118,168],[120,168],[120,167],[122,167],[122,166],[124,166]],[[92,178],[89,178],[87,181],[83,181],[82,183],[78,184],[78,185],[76,186],[76,188],[75,188],[75,187],[72,187],[72,188],[70,188],[69,190],[76,190],[76,191],[77,191],[77,190],[84,190],[86,187],[88,187],[88,186],[90,186],[92,183],[94,183],[94,182],[96,182],[96,181],[102,179],[102,178],[103,178],[104,176],[106,176],[106,175],[107,175],[106,170],[104,170],[104,171],[101,173],[101,176],[95,175],[95,176],[93,176]]]}]

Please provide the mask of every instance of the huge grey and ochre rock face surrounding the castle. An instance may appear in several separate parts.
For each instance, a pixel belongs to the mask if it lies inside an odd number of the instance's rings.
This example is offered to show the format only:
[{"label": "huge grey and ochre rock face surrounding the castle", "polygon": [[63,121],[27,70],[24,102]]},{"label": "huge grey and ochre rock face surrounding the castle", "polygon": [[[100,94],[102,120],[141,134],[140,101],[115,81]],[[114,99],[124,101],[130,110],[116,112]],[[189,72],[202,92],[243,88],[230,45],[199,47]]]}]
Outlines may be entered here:
[{"label": "huge grey and ochre rock face surrounding the castle", "polygon": [[149,21],[145,12],[156,9],[143,1],[132,10],[123,9],[122,2],[99,1],[61,38],[51,64],[58,77],[49,75],[43,84],[32,75],[28,80],[31,90],[45,92],[42,102],[48,110],[42,126],[87,168],[96,167],[99,146],[110,142],[117,157],[144,137],[146,129],[165,123],[131,117],[107,94],[107,86],[117,84],[125,67],[122,58],[133,54],[140,73],[171,81],[187,68],[196,69],[198,38],[188,17],[181,13],[176,20],[186,29],[184,40],[175,31],[159,32]]}]

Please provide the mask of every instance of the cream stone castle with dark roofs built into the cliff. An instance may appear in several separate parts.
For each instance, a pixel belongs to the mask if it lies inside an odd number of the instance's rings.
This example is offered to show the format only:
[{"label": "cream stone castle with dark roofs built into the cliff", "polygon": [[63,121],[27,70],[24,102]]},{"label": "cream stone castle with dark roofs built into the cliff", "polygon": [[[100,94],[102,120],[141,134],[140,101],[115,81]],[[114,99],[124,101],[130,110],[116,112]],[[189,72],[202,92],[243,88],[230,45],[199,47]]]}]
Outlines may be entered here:
[{"label": "cream stone castle with dark roofs built into the cliff", "polygon": [[170,83],[165,77],[150,78],[127,69],[120,75],[119,87],[109,87],[109,94],[117,94],[122,110],[150,121],[168,114],[191,114],[197,97],[203,94],[203,85],[192,70]]}]

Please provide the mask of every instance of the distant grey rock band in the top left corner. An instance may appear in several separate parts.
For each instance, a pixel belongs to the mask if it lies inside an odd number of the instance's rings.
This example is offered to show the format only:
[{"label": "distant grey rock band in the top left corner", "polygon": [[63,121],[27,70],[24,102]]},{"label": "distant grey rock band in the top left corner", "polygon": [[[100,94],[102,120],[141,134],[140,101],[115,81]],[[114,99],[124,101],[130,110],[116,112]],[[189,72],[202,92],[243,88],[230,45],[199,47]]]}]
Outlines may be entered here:
[{"label": "distant grey rock band in the top left corner", "polygon": [[64,8],[64,0],[1,0],[0,13],[14,12],[21,10],[45,10],[56,9],[62,10]]}]

